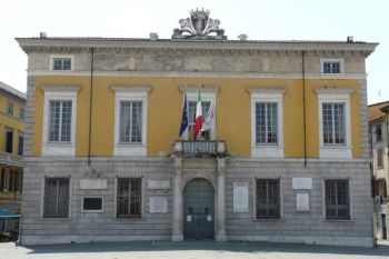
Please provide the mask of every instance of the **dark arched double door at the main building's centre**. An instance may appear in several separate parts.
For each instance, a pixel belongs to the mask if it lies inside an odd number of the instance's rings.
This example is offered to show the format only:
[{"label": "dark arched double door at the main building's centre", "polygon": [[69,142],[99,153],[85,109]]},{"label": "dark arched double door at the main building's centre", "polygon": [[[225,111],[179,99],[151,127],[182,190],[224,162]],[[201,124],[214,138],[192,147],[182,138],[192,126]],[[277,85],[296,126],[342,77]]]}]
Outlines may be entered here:
[{"label": "dark arched double door at the main building's centre", "polygon": [[213,239],[215,190],[201,178],[189,181],[183,191],[183,238]]}]

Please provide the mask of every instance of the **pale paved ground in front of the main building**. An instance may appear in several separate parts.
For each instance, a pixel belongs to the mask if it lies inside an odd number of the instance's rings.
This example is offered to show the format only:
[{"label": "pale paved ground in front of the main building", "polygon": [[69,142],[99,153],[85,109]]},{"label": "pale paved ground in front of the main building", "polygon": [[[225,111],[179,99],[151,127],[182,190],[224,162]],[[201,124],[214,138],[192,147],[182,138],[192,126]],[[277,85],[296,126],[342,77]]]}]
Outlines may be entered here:
[{"label": "pale paved ground in front of the main building", "polygon": [[269,242],[102,242],[38,247],[0,243],[0,259],[332,259],[389,258],[389,246],[326,247]]}]

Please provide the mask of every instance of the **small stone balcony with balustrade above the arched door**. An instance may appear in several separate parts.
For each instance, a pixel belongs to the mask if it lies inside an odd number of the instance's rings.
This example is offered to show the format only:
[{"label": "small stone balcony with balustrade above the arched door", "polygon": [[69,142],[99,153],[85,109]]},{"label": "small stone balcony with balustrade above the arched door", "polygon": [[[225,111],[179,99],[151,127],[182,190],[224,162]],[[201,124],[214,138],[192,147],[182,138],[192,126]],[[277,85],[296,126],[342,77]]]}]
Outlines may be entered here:
[{"label": "small stone balcony with balustrade above the arched door", "polygon": [[227,149],[223,140],[176,140],[173,153],[184,158],[216,158],[226,157]]}]

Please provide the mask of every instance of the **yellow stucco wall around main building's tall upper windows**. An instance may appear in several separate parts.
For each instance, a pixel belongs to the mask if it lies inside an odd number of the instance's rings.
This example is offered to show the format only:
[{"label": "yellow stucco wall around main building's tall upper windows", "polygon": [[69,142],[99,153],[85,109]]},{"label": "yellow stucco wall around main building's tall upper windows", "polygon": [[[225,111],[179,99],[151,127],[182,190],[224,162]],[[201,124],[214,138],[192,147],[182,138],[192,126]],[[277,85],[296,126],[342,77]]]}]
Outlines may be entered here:
[{"label": "yellow stucco wall around main building's tall upper windows", "polygon": [[[44,92],[41,86],[78,84],[76,153],[88,155],[89,124],[89,77],[38,77],[36,82],[36,135],[33,155],[41,155],[42,118]],[[147,84],[152,90],[148,96],[147,116],[147,153],[158,156],[170,153],[171,143],[178,138],[181,119],[182,92],[178,89],[184,84],[218,86],[217,99],[217,139],[227,141],[230,153],[250,156],[251,122],[250,94],[248,86],[285,87],[283,93],[283,141],[285,156],[298,158],[303,156],[303,107],[301,80],[276,79],[216,79],[216,78],[123,78],[96,77],[93,79],[92,114],[92,156],[112,156],[114,128],[114,84]],[[313,88],[337,86],[359,89],[355,80],[306,80],[307,108],[307,155],[319,156],[318,99]],[[352,155],[359,157],[359,96],[351,94]]]}]

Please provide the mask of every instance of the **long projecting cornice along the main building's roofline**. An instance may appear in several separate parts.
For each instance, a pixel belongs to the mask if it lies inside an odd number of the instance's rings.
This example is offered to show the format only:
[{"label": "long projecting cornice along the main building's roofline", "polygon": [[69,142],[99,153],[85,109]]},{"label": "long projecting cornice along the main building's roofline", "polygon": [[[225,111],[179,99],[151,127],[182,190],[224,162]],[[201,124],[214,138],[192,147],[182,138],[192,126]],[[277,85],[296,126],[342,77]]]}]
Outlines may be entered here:
[{"label": "long projecting cornice along the main building's roofline", "polygon": [[91,48],[94,49],[116,49],[120,50],[147,50],[147,51],[177,51],[177,50],[201,50],[201,51],[266,51],[266,52],[301,52],[307,51],[308,54],[315,51],[346,51],[356,52],[369,56],[378,46],[378,43],[366,42],[240,42],[240,41],[219,41],[219,40],[193,40],[193,41],[176,41],[176,40],[139,40],[139,39],[39,39],[39,38],[17,38],[20,47],[26,52],[41,50],[78,50],[84,51]]}]

